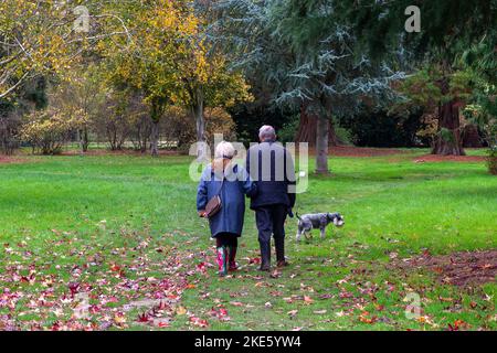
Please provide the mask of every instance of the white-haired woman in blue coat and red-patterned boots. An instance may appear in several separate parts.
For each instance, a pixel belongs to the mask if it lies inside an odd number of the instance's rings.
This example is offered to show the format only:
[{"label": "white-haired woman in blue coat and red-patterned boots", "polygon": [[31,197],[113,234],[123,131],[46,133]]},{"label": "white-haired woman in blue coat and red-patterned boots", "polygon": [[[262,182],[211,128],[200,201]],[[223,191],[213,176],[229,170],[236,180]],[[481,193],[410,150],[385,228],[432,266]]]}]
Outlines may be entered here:
[{"label": "white-haired woman in blue coat and red-patterned boots", "polygon": [[[242,235],[245,195],[253,197],[256,185],[242,165],[233,163],[235,149],[226,141],[215,148],[214,160],[202,173],[197,192],[199,216],[208,217],[211,235],[216,243],[219,275],[236,269],[237,238]],[[219,196],[220,201],[213,201]],[[208,203],[218,204],[216,212],[205,210]]]}]

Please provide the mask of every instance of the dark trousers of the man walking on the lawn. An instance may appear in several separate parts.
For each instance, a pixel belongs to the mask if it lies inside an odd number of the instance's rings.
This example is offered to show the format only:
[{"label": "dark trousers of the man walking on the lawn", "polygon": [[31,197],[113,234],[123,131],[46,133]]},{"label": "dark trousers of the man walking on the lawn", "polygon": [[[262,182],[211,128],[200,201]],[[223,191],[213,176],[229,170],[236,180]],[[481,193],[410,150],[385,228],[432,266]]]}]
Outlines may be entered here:
[{"label": "dark trousers of the man walking on the lawn", "polygon": [[275,204],[255,210],[262,267],[268,267],[271,264],[271,235],[274,235],[276,260],[278,263],[285,260],[285,218],[287,207],[284,204]]}]

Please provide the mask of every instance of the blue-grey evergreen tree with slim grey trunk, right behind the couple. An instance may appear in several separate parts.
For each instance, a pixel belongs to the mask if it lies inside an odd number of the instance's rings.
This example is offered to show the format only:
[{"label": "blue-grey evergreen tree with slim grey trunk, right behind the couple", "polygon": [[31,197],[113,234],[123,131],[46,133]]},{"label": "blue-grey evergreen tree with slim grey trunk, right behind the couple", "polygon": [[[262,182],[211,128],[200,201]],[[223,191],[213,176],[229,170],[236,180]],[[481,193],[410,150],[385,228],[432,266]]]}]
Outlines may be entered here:
[{"label": "blue-grey evergreen tree with slim grey trunk, right behind the couple", "polygon": [[[236,53],[248,76],[262,76],[281,106],[303,106],[317,116],[316,172],[328,173],[332,115],[353,114],[367,96],[381,97],[402,75],[355,51],[338,1],[219,1],[219,39]],[[234,49],[234,51],[233,51]]]}]

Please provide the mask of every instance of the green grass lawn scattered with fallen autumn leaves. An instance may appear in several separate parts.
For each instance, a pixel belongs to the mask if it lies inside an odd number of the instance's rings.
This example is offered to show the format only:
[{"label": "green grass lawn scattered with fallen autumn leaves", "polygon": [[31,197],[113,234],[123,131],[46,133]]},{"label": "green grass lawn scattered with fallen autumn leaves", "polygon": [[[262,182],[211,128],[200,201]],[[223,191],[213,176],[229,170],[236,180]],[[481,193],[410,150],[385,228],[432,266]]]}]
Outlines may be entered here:
[{"label": "green grass lawn scattered with fallen autumn leaves", "polygon": [[[483,162],[414,163],[423,153],[331,158],[332,176],[310,176],[296,210],[338,211],[345,227],[297,244],[288,220],[292,265],[271,276],[256,271],[247,211],[242,268],[225,279],[195,214],[190,158],[0,164],[0,329],[496,330],[495,280],[452,286],[394,266],[497,248],[497,178]],[[404,314],[411,292],[415,319]]]}]

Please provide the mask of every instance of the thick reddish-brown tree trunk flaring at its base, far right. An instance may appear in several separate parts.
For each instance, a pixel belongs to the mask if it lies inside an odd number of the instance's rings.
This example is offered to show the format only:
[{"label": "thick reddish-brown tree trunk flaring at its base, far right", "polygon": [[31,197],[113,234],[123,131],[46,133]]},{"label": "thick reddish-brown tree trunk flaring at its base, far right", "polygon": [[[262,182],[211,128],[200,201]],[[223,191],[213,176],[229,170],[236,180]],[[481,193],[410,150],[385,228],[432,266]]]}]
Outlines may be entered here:
[{"label": "thick reddish-brown tree trunk flaring at its base, far right", "polygon": [[438,106],[438,128],[432,154],[466,154],[461,138],[459,109],[454,100]]}]

